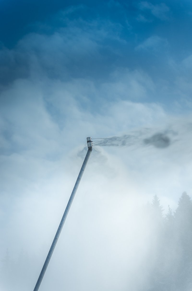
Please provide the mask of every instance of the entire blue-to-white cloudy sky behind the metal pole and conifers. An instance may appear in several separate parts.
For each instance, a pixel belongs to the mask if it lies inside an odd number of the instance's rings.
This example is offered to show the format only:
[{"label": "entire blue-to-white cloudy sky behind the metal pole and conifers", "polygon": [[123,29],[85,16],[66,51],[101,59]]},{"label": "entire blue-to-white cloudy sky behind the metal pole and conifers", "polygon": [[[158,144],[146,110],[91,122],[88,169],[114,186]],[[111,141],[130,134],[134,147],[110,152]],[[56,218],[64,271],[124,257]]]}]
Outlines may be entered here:
[{"label": "entire blue-to-white cloudy sky behind the metal pole and conifers", "polygon": [[[0,288],[34,287],[86,137],[131,133],[137,138],[130,147],[93,149],[64,228],[69,239],[60,237],[41,290],[55,288],[59,266],[67,275],[59,273],[58,290],[70,286],[73,270],[71,290],[129,284],[137,291],[150,236],[135,209],[142,213],[157,194],[166,213],[183,191],[192,196],[191,1],[3,0],[0,8],[0,256],[8,249],[26,277],[14,269],[7,275],[13,283],[1,278]],[[142,142],[156,133],[169,137],[169,147]],[[131,261],[134,247],[138,257]],[[21,250],[30,272],[17,263]]]}]

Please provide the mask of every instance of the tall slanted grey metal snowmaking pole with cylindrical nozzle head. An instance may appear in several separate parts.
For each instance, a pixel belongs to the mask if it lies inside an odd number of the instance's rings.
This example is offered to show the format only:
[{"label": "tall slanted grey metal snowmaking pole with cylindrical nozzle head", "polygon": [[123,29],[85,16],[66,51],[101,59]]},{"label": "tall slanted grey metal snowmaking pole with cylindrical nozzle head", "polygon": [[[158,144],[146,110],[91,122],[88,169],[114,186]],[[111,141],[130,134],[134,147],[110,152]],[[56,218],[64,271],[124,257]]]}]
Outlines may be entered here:
[{"label": "tall slanted grey metal snowmaking pole with cylindrical nozzle head", "polygon": [[72,191],[72,193],[71,193],[71,196],[70,196],[70,198],[69,198],[69,201],[68,201],[68,204],[67,204],[67,206],[66,206],[65,212],[64,212],[64,214],[63,214],[63,217],[62,217],[61,222],[60,222],[60,224],[59,224],[59,227],[58,227],[58,229],[57,229],[56,235],[55,235],[55,237],[54,237],[54,239],[53,239],[52,245],[51,245],[51,247],[50,247],[50,250],[49,250],[49,252],[48,252],[47,258],[46,258],[46,260],[45,260],[45,262],[44,262],[43,268],[42,268],[42,270],[41,270],[41,273],[40,273],[40,275],[39,275],[39,278],[38,278],[38,280],[37,280],[37,283],[36,283],[35,288],[34,288],[33,291],[38,291],[38,290],[39,290],[39,286],[41,285],[41,281],[43,280],[43,277],[44,277],[44,274],[45,274],[46,269],[47,269],[47,267],[48,267],[49,261],[50,261],[50,259],[51,259],[51,256],[52,256],[52,254],[53,254],[53,251],[54,251],[55,246],[56,246],[56,244],[57,244],[57,241],[58,241],[58,239],[59,239],[59,235],[60,235],[61,230],[62,230],[62,228],[63,228],[63,226],[64,226],[64,223],[65,223],[65,220],[66,220],[67,214],[68,214],[68,212],[69,212],[69,209],[70,209],[71,204],[72,204],[72,202],[73,202],[73,199],[74,199],[74,197],[75,197],[75,193],[76,193],[76,191],[77,191],[77,188],[78,188],[78,186],[79,186],[79,183],[80,183],[80,181],[81,181],[82,175],[83,175],[83,173],[84,173],[85,167],[86,167],[86,165],[87,165],[88,159],[89,159],[90,154],[91,154],[91,151],[92,151],[92,140],[91,140],[91,137],[87,137],[87,145],[88,145],[88,151],[87,151],[87,154],[86,154],[86,156],[85,156],[85,159],[84,159],[84,162],[83,162],[83,164],[82,164],[81,170],[80,170],[79,175],[78,175],[78,177],[77,177],[77,181],[76,181],[76,183],[75,183],[75,186],[74,186],[73,191]]}]

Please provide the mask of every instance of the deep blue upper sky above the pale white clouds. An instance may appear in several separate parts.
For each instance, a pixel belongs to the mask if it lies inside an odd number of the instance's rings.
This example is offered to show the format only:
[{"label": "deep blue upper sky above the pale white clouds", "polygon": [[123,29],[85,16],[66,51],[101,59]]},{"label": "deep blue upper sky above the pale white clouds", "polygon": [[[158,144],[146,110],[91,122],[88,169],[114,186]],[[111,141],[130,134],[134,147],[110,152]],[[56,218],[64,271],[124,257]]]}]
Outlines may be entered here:
[{"label": "deep blue upper sky above the pale white clouds", "polygon": [[156,92],[129,100],[170,107],[177,100],[186,109],[189,92],[178,81],[190,74],[190,2],[46,2],[1,3],[2,85],[27,77],[30,53],[41,58],[44,52],[41,70],[50,78],[86,77],[99,86],[113,82],[115,70],[138,70],[151,78]]}]

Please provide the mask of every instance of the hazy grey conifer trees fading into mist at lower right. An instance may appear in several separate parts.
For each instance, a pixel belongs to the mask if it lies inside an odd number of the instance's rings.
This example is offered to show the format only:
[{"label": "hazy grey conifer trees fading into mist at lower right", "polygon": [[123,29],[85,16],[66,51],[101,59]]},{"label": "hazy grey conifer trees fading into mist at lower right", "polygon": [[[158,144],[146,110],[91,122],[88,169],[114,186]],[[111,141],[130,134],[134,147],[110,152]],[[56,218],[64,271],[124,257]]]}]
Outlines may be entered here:
[{"label": "hazy grey conifer trees fading into mist at lower right", "polygon": [[153,220],[153,239],[146,258],[150,266],[148,283],[142,290],[192,290],[191,198],[183,192],[175,212],[169,206],[168,213],[163,216],[160,199],[155,195],[152,203],[146,205],[146,213],[148,219]]}]

